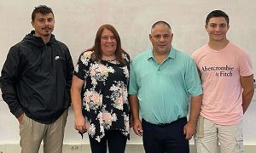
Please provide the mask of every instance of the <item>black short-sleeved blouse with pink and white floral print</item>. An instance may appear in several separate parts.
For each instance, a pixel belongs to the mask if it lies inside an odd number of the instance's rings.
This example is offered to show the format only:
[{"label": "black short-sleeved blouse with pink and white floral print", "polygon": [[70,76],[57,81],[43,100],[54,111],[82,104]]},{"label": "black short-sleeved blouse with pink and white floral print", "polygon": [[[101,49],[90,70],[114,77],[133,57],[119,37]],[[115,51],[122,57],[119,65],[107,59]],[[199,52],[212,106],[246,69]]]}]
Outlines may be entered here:
[{"label": "black short-sleeved blouse with pink and white floral print", "polygon": [[118,60],[92,61],[93,51],[85,51],[79,57],[74,75],[84,80],[82,92],[83,115],[89,122],[88,133],[98,142],[106,130],[120,130],[130,139],[130,107],[128,81],[130,57],[123,54],[126,65]]}]

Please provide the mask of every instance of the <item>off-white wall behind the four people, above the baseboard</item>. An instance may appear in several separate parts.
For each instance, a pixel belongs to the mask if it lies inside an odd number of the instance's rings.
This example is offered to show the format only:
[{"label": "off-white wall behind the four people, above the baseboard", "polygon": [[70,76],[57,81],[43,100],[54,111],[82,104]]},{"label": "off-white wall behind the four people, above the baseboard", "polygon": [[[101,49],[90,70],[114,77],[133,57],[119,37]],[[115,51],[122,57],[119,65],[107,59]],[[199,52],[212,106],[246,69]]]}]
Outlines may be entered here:
[{"label": "off-white wall behind the four people, above the baseboard", "polygon": [[[256,1],[254,0],[0,0],[0,67],[9,48],[32,30],[32,9],[46,4],[55,13],[55,37],[70,48],[73,61],[84,48],[92,47],[96,30],[110,23],[119,31],[122,46],[133,58],[151,47],[150,27],[157,20],[166,20],[174,33],[173,46],[188,54],[207,42],[205,18],[213,9],[223,9],[230,15],[228,37],[246,48],[256,67]],[[255,73],[254,69],[254,73]],[[2,99],[2,98],[1,98]],[[69,111],[65,144],[88,144],[73,129],[73,111]],[[256,103],[248,109],[244,121],[245,144],[256,144]],[[0,144],[19,144],[18,123],[9,108],[0,101]],[[131,134],[129,144],[141,144]],[[193,142],[191,142],[193,144]]]}]

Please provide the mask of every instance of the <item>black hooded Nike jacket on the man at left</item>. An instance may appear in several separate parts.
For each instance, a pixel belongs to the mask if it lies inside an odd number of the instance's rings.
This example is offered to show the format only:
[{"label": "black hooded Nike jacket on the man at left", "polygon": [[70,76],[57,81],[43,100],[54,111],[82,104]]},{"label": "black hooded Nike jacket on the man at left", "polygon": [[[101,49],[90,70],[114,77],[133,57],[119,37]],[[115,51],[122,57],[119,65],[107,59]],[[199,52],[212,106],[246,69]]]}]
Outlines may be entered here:
[{"label": "black hooded Nike jacket on the man at left", "polygon": [[70,105],[73,60],[54,35],[44,44],[34,32],[10,48],[0,84],[12,114],[18,117],[25,112],[32,120],[49,124]]}]

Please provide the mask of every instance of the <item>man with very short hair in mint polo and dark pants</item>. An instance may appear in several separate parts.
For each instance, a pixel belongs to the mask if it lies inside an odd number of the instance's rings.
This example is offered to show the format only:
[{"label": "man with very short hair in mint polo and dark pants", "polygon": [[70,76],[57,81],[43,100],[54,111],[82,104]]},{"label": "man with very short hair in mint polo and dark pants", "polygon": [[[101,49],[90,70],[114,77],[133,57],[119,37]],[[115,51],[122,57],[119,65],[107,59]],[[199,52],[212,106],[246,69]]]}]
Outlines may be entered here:
[{"label": "man with very short hair in mint polo and dark pants", "polygon": [[147,153],[189,152],[201,109],[201,81],[195,62],[172,47],[172,37],[168,23],[154,23],[149,35],[153,48],[137,55],[131,65],[133,130],[143,135]]}]

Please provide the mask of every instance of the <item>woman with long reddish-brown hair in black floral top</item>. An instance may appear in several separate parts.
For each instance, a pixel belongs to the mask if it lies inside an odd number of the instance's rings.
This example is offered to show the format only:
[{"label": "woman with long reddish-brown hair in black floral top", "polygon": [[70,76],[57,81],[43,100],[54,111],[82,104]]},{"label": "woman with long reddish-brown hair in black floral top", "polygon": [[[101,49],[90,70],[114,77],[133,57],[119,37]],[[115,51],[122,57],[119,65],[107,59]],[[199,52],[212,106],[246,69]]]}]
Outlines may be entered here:
[{"label": "woman with long reddish-brown hair in black floral top", "polygon": [[107,152],[107,141],[109,153],[125,152],[130,137],[129,71],[130,57],[118,32],[111,25],[101,26],[95,45],[79,56],[71,88],[75,128],[89,133],[93,153]]}]

